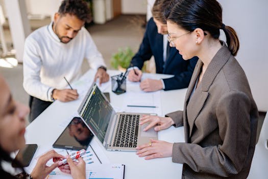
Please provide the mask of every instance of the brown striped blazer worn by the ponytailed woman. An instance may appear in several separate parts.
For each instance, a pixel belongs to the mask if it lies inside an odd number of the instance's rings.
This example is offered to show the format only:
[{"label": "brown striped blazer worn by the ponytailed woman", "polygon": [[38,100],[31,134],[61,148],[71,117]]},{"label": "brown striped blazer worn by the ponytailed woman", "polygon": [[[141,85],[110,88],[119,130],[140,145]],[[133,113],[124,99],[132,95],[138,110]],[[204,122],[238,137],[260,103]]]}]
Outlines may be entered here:
[{"label": "brown striped blazer worn by the ponytailed woman", "polygon": [[174,143],[172,161],[183,164],[182,178],[247,178],[255,149],[258,110],[247,77],[225,42],[202,69],[198,61],[184,111],[167,114],[184,125],[185,143]]}]

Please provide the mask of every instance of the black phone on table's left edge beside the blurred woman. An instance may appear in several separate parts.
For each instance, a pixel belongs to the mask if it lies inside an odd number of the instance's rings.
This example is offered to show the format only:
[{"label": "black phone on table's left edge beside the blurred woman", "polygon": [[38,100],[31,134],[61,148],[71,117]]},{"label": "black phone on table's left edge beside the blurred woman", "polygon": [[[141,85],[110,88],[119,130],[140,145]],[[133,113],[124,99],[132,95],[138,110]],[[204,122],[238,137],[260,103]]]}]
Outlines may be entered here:
[{"label": "black phone on table's left edge beside the blurred woman", "polygon": [[26,144],[23,149],[20,149],[15,157],[21,166],[14,161],[12,162],[12,167],[28,167],[33,159],[34,153],[37,149],[37,144]]}]

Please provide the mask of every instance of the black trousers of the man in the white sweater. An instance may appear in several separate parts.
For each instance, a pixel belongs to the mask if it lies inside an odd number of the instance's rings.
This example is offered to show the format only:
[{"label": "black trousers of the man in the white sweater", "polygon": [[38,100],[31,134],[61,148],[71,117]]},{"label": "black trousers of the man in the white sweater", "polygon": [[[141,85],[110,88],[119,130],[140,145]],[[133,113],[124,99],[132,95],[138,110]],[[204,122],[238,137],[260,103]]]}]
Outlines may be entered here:
[{"label": "black trousers of the man in the white sweater", "polygon": [[33,122],[48,106],[53,102],[43,101],[33,96],[30,96],[29,106],[30,106],[30,115],[29,122]]}]

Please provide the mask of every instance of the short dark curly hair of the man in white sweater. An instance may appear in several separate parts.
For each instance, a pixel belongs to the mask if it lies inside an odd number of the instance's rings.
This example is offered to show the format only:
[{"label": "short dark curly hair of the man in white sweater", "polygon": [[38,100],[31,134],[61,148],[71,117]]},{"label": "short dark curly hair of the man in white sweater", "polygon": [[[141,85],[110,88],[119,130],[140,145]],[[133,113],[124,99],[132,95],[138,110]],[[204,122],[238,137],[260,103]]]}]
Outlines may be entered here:
[{"label": "short dark curly hair of the man in white sweater", "polygon": [[83,0],[62,1],[58,13],[62,16],[66,14],[75,15],[87,23],[91,21],[89,5]]}]

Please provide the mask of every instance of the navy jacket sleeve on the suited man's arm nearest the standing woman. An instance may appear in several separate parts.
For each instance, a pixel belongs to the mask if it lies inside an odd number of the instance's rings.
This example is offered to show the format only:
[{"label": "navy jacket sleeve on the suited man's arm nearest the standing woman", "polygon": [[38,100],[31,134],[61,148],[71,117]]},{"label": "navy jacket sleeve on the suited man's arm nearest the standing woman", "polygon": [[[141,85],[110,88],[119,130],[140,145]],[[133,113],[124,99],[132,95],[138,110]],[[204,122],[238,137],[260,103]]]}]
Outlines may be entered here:
[{"label": "navy jacket sleeve on the suited man's arm nearest the standing woman", "polygon": [[193,57],[189,60],[187,70],[175,75],[172,78],[163,79],[165,88],[164,91],[172,90],[172,89],[181,89],[188,87],[194,67],[196,66],[198,61],[198,57]]}]

